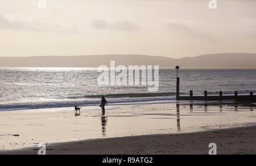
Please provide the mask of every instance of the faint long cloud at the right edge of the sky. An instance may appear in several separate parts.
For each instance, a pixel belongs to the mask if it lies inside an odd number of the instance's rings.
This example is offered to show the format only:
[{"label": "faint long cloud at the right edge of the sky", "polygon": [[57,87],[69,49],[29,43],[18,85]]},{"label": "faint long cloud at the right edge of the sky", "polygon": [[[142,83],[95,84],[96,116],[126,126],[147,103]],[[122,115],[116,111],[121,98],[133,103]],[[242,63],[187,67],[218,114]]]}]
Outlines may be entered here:
[{"label": "faint long cloud at the right edge of the sky", "polygon": [[253,19],[234,18],[225,20],[221,24],[187,19],[162,19],[160,22],[164,22],[164,26],[170,31],[182,32],[183,34],[197,37],[213,37],[217,34],[256,34],[256,21]]}]

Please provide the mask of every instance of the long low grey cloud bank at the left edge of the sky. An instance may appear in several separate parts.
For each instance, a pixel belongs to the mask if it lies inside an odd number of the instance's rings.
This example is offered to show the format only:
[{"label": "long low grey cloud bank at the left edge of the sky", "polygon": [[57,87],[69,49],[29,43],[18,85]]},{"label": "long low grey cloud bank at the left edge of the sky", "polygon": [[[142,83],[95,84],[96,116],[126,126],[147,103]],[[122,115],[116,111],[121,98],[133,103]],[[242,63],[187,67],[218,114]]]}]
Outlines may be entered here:
[{"label": "long low grey cloud bank at the left edge of the sky", "polygon": [[48,23],[42,23],[38,20],[27,21],[27,20],[9,20],[5,16],[0,14],[0,28],[9,30],[24,30],[24,31],[42,31],[42,32],[78,32],[78,26],[70,28],[64,28]]}]

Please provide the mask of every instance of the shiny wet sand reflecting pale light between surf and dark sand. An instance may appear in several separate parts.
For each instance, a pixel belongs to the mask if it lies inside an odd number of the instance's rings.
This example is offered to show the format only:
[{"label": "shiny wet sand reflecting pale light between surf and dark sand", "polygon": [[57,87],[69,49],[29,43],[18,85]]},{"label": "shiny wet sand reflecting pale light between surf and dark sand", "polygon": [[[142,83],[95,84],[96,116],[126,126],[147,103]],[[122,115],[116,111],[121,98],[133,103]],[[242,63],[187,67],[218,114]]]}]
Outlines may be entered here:
[{"label": "shiny wet sand reflecting pale light between surf and dark sand", "polygon": [[[192,112],[189,110],[191,104],[193,104]],[[8,128],[8,132],[3,132],[0,136],[0,150],[26,148],[33,146],[35,142],[175,134],[245,127],[256,123],[256,111],[250,111],[256,109],[256,103],[209,101],[207,113],[204,112],[204,104],[204,101],[171,103],[167,101],[143,105],[110,105],[106,115],[99,113],[98,107],[88,106],[86,107],[88,111],[80,117],[73,117],[72,108],[24,110],[22,114],[0,111],[0,131]],[[236,113],[235,105],[239,109]],[[67,118],[69,116],[72,117]],[[29,122],[24,121],[28,117]],[[38,117],[42,117],[42,121],[39,121]],[[52,118],[55,118],[54,121]],[[49,124],[51,124],[50,128]],[[56,132],[60,128],[61,134]],[[77,130],[78,128],[80,130]],[[34,131],[38,132],[35,134]],[[28,140],[26,136],[19,136],[18,139],[13,134],[28,134],[30,137],[33,136],[34,140]]]}]

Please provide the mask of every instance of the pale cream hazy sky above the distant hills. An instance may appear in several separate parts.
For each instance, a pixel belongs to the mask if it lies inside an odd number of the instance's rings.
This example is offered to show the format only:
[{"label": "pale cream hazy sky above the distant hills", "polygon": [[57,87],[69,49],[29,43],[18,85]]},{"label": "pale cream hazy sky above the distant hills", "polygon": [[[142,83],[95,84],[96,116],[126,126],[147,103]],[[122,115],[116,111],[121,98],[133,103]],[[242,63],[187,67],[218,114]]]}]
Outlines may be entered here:
[{"label": "pale cream hazy sky above the distant hills", "polygon": [[0,56],[256,53],[256,1],[0,0]]}]

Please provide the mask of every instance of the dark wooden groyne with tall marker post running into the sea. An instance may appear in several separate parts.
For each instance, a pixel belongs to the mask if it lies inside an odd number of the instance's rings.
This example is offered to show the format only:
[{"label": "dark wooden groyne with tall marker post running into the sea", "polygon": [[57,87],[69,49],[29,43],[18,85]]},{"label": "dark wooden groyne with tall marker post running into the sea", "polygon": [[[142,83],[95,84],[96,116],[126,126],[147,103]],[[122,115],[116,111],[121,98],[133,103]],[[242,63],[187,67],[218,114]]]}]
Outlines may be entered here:
[{"label": "dark wooden groyne with tall marker post running into the sea", "polygon": [[[179,69],[179,67],[176,67]],[[240,96],[238,92],[234,92],[233,96],[223,96],[223,92],[220,91],[218,96],[208,96],[208,92],[204,92],[204,96],[193,96],[193,90],[190,90],[189,96],[180,96],[180,77],[177,77],[176,84],[176,100],[187,100],[187,101],[244,101],[244,102],[256,102],[256,96],[253,92],[250,95]]]}]

